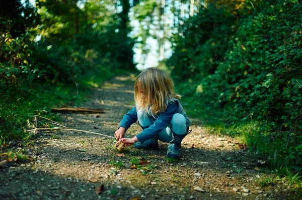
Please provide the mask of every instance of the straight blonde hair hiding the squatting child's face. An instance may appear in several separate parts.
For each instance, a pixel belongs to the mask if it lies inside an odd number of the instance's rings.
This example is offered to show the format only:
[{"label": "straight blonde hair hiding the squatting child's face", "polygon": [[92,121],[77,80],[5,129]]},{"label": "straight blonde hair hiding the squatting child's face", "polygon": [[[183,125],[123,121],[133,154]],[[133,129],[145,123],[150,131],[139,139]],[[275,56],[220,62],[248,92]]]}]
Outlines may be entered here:
[{"label": "straight blonde hair hiding the squatting child's face", "polygon": [[[141,97],[137,85],[140,85],[144,98]],[[174,92],[174,83],[166,71],[150,67],[141,72],[134,84],[134,100],[137,109],[156,114],[167,109],[168,102],[173,98],[180,99],[180,95]]]}]

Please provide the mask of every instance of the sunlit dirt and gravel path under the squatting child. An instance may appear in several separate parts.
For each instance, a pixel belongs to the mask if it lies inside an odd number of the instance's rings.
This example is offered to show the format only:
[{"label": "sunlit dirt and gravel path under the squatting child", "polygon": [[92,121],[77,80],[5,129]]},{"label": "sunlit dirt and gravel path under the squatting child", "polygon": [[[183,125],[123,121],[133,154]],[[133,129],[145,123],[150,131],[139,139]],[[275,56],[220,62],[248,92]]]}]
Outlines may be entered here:
[{"label": "sunlit dirt and gravel path under the squatting child", "polygon": [[[130,77],[106,82],[83,105],[103,108],[106,113],[61,113],[64,125],[113,136],[123,115],[133,107],[133,84]],[[167,143],[160,142],[158,150],[131,147],[119,154],[112,148],[113,138],[40,132],[33,145],[21,147],[33,161],[0,169],[0,199],[295,198],[294,193],[287,193],[286,184],[260,188],[259,177],[267,173],[261,168],[260,158],[234,139],[210,135],[198,120],[192,121],[193,131],[183,141],[179,161],[166,158]],[[133,124],[126,137],[140,131]],[[130,168],[140,160],[150,162]],[[255,170],[256,166],[261,171]],[[100,194],[95,191],[98,187]]]}]

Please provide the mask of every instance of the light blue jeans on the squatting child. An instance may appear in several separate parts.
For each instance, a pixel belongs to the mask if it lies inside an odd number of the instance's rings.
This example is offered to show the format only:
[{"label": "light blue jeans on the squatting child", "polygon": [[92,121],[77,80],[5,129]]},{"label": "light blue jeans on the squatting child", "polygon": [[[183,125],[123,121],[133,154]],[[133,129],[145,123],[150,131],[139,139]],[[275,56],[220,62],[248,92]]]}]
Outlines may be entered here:
[{"label": "light blue jeans on the squatting child", "polygon": [[[138,123],[142,129],[152,125],[155,119],[144,111],[137,110]],[[164,128],[159,134],[159,140],[170,142],[172,140],[172,131],[178,135],[183,135],[187,132],[186,118],[179,113],[173,115],[168,127]]]}]

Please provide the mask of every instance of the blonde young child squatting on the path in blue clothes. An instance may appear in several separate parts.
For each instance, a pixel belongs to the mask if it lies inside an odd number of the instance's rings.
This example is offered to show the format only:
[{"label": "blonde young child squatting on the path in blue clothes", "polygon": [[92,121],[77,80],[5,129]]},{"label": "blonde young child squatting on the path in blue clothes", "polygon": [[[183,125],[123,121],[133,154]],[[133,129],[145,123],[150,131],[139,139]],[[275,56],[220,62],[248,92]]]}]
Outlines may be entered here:
[{"label": "blonde young child squatting on the path in blue clothes", "polygon": [[[191,132],[192,124],[186,116],[174,92],[174,83],[167,72],[158,68],[147,68],[136,78],[134,85],[135,106],[120,122],[114,136],[116,145],[134,146],[138,149],[156,149],[158,139],[168,142],[167,156],[179,158],[181,141]],[[131,139],[124,138],[126,130],[135,123],[142,132]]]}]

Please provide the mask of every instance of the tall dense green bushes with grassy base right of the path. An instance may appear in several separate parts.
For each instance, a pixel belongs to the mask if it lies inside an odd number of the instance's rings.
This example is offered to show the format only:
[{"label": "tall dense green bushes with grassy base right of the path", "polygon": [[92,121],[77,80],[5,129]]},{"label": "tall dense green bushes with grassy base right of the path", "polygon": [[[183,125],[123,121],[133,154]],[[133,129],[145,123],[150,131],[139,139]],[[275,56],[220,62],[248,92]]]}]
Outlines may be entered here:
[{"label": "tall dense green bushes with grassy base right of the path", "polygon": [[234,14],[223,3],[185,22],[167,65],[205,123],[223,121],[272,166],[301,172],[302,5],[253,1]]}]

